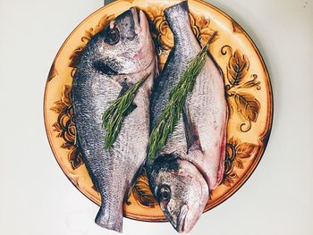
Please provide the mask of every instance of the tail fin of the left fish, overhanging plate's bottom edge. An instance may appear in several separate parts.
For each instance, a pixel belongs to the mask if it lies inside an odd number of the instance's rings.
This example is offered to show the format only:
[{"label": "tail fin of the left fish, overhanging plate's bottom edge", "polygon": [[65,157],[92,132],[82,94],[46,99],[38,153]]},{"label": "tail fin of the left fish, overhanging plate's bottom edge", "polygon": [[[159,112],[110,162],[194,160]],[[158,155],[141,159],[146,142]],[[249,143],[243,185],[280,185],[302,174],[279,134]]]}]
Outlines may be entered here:
[{"label": "tail fin of the left fish, overhanging plate's bottom edge", "polygon": [[116,208],[108,208],[105,203],[100,206],[95,222],[102,228],[123,232],[123,203]]}]

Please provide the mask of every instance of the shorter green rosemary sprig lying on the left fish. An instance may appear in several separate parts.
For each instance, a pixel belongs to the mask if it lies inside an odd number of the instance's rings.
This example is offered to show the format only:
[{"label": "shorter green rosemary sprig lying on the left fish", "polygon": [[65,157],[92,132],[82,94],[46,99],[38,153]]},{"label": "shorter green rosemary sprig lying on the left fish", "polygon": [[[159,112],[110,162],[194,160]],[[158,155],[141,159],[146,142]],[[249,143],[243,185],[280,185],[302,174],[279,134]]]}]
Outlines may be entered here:
[{"label": "shorter green rosemary sprig lying on the left fish", "polygon": [[105,137],[105,149],[110,149],[114,144],[115,139],[121,131],[123,120],[131,113],[135,108],[132,102],[136,97],[137,91],[142,83],[147,80],[149,74],[135,83],[129,88],[121,97],[118,97],[114,102],[106,109],[102,116],[102,127],[106,130]]}]

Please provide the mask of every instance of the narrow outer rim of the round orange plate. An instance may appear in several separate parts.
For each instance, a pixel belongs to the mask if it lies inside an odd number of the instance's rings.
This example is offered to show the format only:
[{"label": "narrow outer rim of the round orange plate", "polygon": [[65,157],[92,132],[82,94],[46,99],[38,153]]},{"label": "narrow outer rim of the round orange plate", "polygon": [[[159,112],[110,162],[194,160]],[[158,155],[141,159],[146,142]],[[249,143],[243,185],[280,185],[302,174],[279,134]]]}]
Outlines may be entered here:
[{"label": "narrow outer rim of the round orange plate", "polygon": [[[266,93],[267,96],[268,96],[268,108],[267,108],[267,112],[266,112],[267,125],[266,125],[266,128],[264,129],[265,131],[259,136],[260,140],[263,143],[263,147],[262,147],[262,149],[260,151],[258,151],[258,155],[255,156],[254,162],[250,165],[250,168],[248,169],[247,172],[245,172],[244,176],[240,180],[238,180],[232,186],[232,189],[229,189],[222,197],[219,197],[216,200],[216,203],[213,206],[207,206],[207,208],[203,212],[203,213],[206,213],[207,211],[212,210],[216,206],[219,206],[220,204],[225,202],[229,197],[232,197],[239,189],[241,189],[241,187],[247,182],[247,180],[250,179],[250,177],[253,174],[253,172],[257,169],[258,164],[260,163],[261,159],[263,158],[263,156],[265,154],[266,147],[267,147],[267,144],[268,144],[268,141],[269,141],[269,138],[270,138],[270,134],[271,134],[271,131],[272,131],[272,127],[273,127],[274,96],[273,96],[273,87],[272,87],[272,83],[271,83],[271,77],[270,77],[270,74],[269,74],[269,72],[267,70],[266,62],[264,60],[264,57],[260,54],[260,52],[258,50],[258,47],[254,43],[254,41],[250,38],[250,35],[247,33],[247,31],[245,29],[242,29],[241,26],[237,23],[237,21],[233,20],[233,18],[229,14],[224,13],[224,11],[220,10],[219,8],[214,6],[213,4],[208,4],[207,2],[201,1],[201,0],[189,0],[189,1],[190,2],[199,3],[199,4],[204,4],[207,8],[212,9],[212,11],[215,11],[217,13],[222,14],[229,21],[232,21],[233,27],[238,27],[242,31],[242,33],[244,34],[245,38],[248,38],[248,40],[250,41],[250,45],[253,46],[254,51],[258,55],[258,59],[259,59],[259,61],[262,64],[262,70],[266,74],[266,83],[267,83],[266,84],[266,88],[268,88],[268,92]],[[62,46],[58,49],[58,52],[55,55],[55,59],[54,59],[54,61],[52,63],[51,69],[50,69],[50,71],[48,73],[48,76],[47,76],[47,82],[46,82],[46,85],[45,85],[45,92],[44,92],[43,114],[44,114],[45,130],[46,130],[49,146],[50,146],[50,148],[51,148],[51,150],[53,152],[53,155],[55,157],[55,161],[60,166],[60,168],[62,169],[62,171],[65,174],[65,176],[67,177],[67,179],[71,181],[72,185],[76,189],[79,189],[80,193],[82,195],[84,195],[84,197],[89,198],[89,200],[91,200],[96,205],[97,205],[97,202],[96,202],[97,198],[93,197],[90,194],[88,196],[86,194],[86,191],[84,191],[83,189],[81,189],[80,187],[75,185],[75,183],[71,179],[70,173],[67,172],[66,169],[64,169],[63,165],[60,164],[60,162],[58,161],[58,159],[56,157],[56,152],[55,152],[55,148],[53,146],[53,140],[52,140],[52,137],[51,137],[51,133],[48,131],[48,126],[47,126],[47,90],[48,90],[47,86],[48,86],[49,79],[51,78],[51,73],[53,72],[53,69],[55,67],[55,61],[60,56],[61,52],[63,51],[64,46],[66,46],[66,44],[68,43],[70,38],[72,38],[73,34],[78,29],[80,29],[80,27],[86,21],[88,21],[90,18],[93,18],[95,15],[97,15],[97,13],[99,13],[101,11],[104,11],[106,8],[109,8],[110,6],[113,6],[114,4],[117,4],[119,2],[125,2],[125,0],[116,0],[116,1],[114,1],[112,3],[110,3],[110,4],[106,4],[106,5],[102,6],[102,7],[100,7],[94,13],[89,14],[89,16],[87,16],[82,21],[80,21],[80,23],[74,29],[72,29],[72,32],[63,41]],[[129,2],[131,3],[131,1],[129,1]],[[168,1],[165,0],[165,2],[168,2]],[[165,219],[163,217],[153,216],[153,215],[147,216],[147,215],[140,215],[140,214],[132,214],[132,213],[128,212],[127,214],[123,214],[123,216],[128,218],[128,219],[131,219],[131,220],[142,221],[142,222],[168,222],[167,219]]]}]

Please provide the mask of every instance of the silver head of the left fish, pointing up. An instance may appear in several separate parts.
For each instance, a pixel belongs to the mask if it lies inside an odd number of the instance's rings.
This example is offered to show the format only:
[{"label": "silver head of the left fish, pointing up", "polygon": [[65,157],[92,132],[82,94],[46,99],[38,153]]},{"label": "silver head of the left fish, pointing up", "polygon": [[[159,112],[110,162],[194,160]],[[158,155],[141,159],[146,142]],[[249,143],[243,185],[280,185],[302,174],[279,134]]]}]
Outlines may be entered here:
[{"label": "silver head of the left fish, pointing up", "polygon": [[88,50],[94,67],[108,75],[143,71],[156,58],[147,17],[133,7],[98,32]]}]

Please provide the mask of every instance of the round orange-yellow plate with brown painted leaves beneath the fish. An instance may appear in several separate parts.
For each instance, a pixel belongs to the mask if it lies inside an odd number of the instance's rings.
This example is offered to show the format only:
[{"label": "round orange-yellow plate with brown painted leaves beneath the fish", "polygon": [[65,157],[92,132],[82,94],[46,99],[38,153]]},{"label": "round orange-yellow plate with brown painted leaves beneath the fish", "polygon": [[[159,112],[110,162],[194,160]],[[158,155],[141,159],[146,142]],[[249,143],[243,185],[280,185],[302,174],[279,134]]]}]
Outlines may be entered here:
[{"label": "round orange-yellow plate with brown painted leaves beneath the fish", "polygon": [[[77,189],[100,205],[100,195],[90,180],[79,149],[75,146],[72,118],[72,75],[80,52],[89,39],[106,27],[115,16],[136,6],[147,13],[162,70],[173,46],[173,35],[164,9],[180,1],[134,0],[106,5],[73,30],[55,57],[47,79],[44,113],[47,137],[63,172]],[[266,148],[272,124],[272,91],[266,65],[247,33],[216,7],[189,1],[191,27],[203,44],[217,31],[209,51],[224,71],[226,97],[230,108],[227,151],[222,184],[212,191],[205,211],[219,205],[241,187],[255,170]],[[165,221],[148,187],[145,172],[138,178],[124,215],[149,222]]]}]

